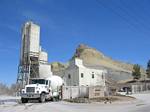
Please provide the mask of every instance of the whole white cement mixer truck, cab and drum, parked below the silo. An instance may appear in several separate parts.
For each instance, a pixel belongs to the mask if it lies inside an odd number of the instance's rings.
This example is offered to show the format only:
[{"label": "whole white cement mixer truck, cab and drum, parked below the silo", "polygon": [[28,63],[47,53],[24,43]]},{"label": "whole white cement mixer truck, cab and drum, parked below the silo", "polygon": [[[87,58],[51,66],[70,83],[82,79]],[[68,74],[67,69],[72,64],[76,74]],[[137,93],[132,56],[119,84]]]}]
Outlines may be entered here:
[{"label": "whole white cement mixer truck, cab and drum, parked below the silo", "polygon": [[33,99],[37,99],[39,102],[59,100],[62,84],[63,80],[59,76],[30,79],[30,83],[21,91],[21,101],[27,103]]}]

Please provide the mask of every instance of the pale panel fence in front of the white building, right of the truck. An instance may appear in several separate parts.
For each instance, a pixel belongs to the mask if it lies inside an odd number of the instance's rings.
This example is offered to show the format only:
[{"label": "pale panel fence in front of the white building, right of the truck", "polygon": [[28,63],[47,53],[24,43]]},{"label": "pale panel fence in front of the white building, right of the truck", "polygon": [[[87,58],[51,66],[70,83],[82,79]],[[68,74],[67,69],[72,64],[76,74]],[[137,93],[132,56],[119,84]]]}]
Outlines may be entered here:
[{"label": "pale panel fence in front of the white building, right of the truck", "polygon": [[62,99],[103,97],[105,87],[102,86],[63,86]]}]

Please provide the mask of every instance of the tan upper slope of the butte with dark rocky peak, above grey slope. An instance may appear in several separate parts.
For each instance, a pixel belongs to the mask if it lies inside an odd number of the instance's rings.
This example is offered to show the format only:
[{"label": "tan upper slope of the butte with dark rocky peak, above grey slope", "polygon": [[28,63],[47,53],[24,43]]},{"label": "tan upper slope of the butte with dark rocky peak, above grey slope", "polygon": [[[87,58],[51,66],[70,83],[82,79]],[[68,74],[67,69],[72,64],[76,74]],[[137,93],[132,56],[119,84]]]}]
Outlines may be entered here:
[{"label": "tan upper slope of the butte with dark rocky peak, above grey slope", "polygon": [[[79,45],[76,49],[73,58],[75,57],[82,59],[85,64],[101,65],[119,71],[131,72],[133,68],[133,64],[113,60],[100,51],[83,44]],[[144,72],[145,70],[142,69],[141,71]]]}]

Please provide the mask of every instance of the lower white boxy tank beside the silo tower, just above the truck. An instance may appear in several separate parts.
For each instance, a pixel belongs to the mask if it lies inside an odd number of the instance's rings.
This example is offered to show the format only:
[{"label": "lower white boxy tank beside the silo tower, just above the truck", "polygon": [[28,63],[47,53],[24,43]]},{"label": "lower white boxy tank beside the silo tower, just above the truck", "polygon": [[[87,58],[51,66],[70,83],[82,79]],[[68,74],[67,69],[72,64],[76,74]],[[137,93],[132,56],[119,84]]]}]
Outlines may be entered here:
[{"label": "lower white boxy tank beside the silo tower, just above the truck", "polygon": [[51,65],[40,64],[39,65],[39,78],[48,78],[52,76]]}]

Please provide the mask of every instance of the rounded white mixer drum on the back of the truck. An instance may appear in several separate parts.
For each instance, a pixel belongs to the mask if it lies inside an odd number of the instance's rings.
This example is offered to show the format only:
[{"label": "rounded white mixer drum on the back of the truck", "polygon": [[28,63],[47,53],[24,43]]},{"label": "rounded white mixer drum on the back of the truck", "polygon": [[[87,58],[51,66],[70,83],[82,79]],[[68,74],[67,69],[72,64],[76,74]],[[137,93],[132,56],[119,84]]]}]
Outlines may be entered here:
[{"label": "rounded white mixer drum on the back of the truck", "polygon": [[53,91],[55,91],[55,90],[57,91],[60,88],[60,86],[62,86],[62,84],[63,84],[63,80],[59,76],[49,77],[48,80],[51,81],[51,88]]}]

